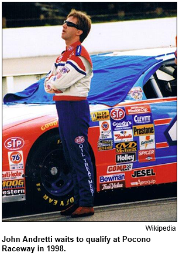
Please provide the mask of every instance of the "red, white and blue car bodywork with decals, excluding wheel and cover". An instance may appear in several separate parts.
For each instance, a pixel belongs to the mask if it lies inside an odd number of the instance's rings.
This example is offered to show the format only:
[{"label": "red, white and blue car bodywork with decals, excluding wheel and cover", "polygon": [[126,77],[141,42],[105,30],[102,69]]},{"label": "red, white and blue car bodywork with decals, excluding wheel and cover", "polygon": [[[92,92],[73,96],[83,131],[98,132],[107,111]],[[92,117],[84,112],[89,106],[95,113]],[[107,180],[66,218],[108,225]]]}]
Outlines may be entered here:
[{"label": "red, white and blue car bodywork with decals, excluding wheel and cover", "polygon": [[[146,98],[142,85],[151,70],[118,105],[90,105],[88,139],[98,192],[177,181],[177,97]],[[27,156],[40,136],[58,128],[58,117],[55,105],[19,104],[4,106],[4,110],[5,203],[26,200]]]}]

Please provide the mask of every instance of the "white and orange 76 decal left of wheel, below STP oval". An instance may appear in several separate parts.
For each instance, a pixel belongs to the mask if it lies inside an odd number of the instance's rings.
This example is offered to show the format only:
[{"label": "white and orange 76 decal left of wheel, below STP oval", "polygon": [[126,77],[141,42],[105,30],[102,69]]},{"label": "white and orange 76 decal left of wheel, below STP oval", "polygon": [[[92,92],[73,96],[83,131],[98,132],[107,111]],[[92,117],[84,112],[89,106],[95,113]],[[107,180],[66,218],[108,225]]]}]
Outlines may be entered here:
[{"label": "white and orange 76 decal left of wheel, below STP oval", "polygon": [[8,160],[10,170],[18,170],[24,168],[22,151],[8,152]]}]

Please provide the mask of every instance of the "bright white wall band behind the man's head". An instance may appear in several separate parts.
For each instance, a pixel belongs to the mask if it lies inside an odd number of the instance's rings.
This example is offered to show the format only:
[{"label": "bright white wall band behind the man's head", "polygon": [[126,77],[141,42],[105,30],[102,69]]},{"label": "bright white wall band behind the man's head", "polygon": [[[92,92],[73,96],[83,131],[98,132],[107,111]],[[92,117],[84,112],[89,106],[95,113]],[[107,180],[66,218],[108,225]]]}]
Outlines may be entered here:
[{"label": "bright white wall band behind the man's head", "polygon": [[[2,31],[2,58],[58,55],[64,50],[62,26]],[[92,24],[83,45],[89,53],[175,46],[177,18]]]}]

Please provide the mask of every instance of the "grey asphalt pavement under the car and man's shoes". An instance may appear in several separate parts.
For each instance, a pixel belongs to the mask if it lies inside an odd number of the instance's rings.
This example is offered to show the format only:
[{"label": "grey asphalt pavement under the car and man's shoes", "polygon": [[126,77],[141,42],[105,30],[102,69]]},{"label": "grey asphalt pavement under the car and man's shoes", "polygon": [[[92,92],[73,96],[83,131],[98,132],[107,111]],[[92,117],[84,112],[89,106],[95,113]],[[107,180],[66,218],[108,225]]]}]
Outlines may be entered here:
[{"label": "grey asphalt pavement under the car and man's shoes", "polygon": [[89,217],[71,218],[60,212],[4,218],[2,221],[177,221],[177,198],[137,201],[134,203],[97,206]]}]

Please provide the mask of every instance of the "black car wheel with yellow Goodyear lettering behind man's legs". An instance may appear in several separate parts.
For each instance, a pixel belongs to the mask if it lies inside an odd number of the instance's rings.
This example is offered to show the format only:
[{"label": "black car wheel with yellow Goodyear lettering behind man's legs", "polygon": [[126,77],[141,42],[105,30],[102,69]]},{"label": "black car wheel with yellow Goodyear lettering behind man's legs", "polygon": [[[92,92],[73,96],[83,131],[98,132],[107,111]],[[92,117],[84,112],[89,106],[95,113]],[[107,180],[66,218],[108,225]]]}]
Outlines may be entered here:
[{"label": "black car wheel with yellow Goodyear lettering behind man's legs", "polygon": [[43,136],[26,163],[26,200],[33,210],[63,210],[74,202],[73,181],[57,133]]}]

